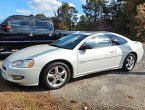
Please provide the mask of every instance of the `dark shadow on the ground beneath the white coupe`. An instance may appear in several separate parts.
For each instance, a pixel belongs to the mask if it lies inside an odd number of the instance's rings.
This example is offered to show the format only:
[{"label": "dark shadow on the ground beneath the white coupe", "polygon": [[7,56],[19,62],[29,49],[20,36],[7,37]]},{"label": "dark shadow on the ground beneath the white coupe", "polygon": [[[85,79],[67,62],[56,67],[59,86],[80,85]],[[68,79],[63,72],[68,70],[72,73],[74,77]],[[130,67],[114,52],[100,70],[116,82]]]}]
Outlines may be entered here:
[{"label": "dark shadow on the ground beneath the white coupe", "polygon": [[[77,82],[80,80],[91,79],[93,77],[99,77],[108,74],[121,74],[121,75],[145,75],[145,72],[122,72],[121,70],[111,70],[111,71],[104,71],[98,72],[86,76],[82,76],[75,79],[70,79],[69,83]],[[45,89],[42,85],[39,86],[21,86],[15,83],[8,82],[2,78],[0,75],[0,92],[41,92],[41,91],[50,91]]]}]

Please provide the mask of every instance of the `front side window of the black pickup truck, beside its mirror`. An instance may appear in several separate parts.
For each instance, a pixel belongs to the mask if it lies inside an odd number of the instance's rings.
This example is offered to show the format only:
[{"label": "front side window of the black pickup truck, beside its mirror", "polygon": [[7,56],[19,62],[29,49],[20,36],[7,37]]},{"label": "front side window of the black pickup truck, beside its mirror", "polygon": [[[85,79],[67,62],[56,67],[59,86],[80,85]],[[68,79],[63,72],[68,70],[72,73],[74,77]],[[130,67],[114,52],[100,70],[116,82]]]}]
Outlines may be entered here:
[{"label": "front side window of the black pickup truck, beside its mirror", "polygon": [[15,18],[10,20],[12,30],[29,30],[29,20]]}]

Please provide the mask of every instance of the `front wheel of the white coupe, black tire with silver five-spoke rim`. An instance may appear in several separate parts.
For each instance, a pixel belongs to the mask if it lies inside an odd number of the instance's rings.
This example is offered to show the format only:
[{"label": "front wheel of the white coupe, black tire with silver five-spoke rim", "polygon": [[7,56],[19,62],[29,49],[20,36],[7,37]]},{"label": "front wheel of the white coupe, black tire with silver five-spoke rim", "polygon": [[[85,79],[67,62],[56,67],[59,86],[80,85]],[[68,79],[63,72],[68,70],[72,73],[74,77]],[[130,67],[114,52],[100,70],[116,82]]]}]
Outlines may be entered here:
[{"label": "front wheel of the white coupe, black tire with silver five-spoke rim", "polygon": [[46,66],[41,76],[41,83],[46,89],[59,89],[70,79],[70,69],[62,62],[54,62]]}]

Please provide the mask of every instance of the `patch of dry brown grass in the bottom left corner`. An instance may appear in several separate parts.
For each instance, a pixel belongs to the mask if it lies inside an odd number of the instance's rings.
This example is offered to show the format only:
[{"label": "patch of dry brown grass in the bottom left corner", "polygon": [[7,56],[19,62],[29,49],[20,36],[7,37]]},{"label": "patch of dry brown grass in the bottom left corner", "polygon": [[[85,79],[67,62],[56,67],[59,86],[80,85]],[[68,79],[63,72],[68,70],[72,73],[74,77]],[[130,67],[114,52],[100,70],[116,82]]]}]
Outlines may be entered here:
[{"label": "patch of dry brown grass in the bottom left corner", "polygon": [[1,110],[57,110],[66,108],[49,94],[5,92],[0,93]]}]

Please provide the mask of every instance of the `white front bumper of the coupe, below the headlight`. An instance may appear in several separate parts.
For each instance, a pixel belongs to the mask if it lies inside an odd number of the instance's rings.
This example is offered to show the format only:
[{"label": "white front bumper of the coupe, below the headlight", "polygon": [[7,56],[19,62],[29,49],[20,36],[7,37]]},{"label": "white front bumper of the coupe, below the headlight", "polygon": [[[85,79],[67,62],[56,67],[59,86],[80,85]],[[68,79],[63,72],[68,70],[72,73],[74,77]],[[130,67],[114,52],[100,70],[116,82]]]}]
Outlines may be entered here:
[{"label": "white front bumper of the coupe, below the headlight", "polygon": [[[4,79],[24,86],[34,86],[39,84],[40,68],[16,68],[11,66],[11,62],[6,59],[2,65],[2,76]],[[23,76],[21,80],[15,80],[13,76]]]}]

